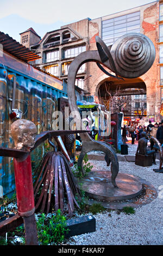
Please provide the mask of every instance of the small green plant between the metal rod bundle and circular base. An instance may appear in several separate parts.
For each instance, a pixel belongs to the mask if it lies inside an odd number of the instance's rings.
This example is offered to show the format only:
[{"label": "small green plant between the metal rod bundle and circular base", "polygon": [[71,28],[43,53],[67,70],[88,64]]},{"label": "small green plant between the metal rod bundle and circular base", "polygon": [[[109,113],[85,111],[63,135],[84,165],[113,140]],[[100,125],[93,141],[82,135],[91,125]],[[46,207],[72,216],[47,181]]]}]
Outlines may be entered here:
[{"label": "small green plant between the metal rod bundle and circular base", "polygon": [[[78,156],[77,156],[77,159],[78,159]],[[84,176],[89,174],[93,168],[93,166],[91,166],[91,164],[89,163],[87,154],[84,156],[83,161],[84,161],[84,164],[83,164],[84,175],[82,173],[82,168],[79,167],[77,163],[75,163],[72,168],[72,172],[73,172],[74,176],[78,179],[82,179]]]}]

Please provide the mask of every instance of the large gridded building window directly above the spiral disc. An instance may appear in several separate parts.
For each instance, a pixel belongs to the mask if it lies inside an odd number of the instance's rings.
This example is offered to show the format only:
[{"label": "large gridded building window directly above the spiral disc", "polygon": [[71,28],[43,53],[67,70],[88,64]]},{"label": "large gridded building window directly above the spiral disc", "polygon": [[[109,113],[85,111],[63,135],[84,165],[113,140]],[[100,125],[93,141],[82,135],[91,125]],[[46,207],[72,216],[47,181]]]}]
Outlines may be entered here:
[{"label": "large gridded building window directly above the spiral disc", "polygon": [[102,21],[102,39],[111,45],[120,36],[140,32],[140,11]]}]

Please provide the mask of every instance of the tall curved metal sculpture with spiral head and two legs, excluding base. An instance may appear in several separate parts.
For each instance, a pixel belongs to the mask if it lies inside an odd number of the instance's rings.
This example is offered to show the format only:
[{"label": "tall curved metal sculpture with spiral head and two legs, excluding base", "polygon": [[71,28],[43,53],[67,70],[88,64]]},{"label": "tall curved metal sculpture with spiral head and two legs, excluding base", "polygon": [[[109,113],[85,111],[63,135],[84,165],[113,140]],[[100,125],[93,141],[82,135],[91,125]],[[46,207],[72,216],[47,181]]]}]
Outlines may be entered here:
[{"label": "tall curved metal sculpture with spiral head and two legs, excluding base", "polygon": [[[98,67],[108,76],[121,79],[135,78],[145,74],[152,66],[155,59],[153,42],[147,36],[140,33],[130,33],[117,39],[112,46],[107,47],[103,40],[96,36],[97,51],[86,51],[79,54],[71,63],[68,70],[67,93],[71,112],[76,113],[76,123],[82,125],[82,119],[78,112],[74,84],[77,72],[84,63],[96,62]],[[115,73],[107,72],[103,66]],[[111,182],[116,185],[118,174],[118,161],[114,149],[104,142],[95,141],[88,134],[81,135],[82,152],[78,160],[78,166],[83,170],[82,162],[84,155],[92,150],[103,151],[107,163],[111,162]]]}]

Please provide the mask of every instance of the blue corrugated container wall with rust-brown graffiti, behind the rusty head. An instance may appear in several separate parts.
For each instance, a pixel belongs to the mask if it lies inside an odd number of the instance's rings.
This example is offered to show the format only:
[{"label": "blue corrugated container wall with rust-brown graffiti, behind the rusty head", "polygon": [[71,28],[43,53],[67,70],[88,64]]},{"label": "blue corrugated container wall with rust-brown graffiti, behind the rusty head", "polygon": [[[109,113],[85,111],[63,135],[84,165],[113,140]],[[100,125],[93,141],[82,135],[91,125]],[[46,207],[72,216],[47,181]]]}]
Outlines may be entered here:
[{"label": "blue corrugated container wall with rust-brown graffiti, behind the rusty head", "polygon": [[[16,76],[15,108],[23,112],[22,118],[35,123],[37,133],[51,130],[52,114],[57,109],[57,99],[67,96],[61,90],[39,81],[38,77],[42,77],[42,74],[34,79],[23,72],[13,70],[0,64],[0,146],[7,148],[14,147],[10,132],[12,120],[9,118],[12,103],[9,99],[12,99],[13,76]],[[32,154],[32,159],[37,154],[43,153],[43,147],[36,149]],[[9,157],[0,157],[0,185],[3,186],[4,194],[15,189],[13,160]]]}]

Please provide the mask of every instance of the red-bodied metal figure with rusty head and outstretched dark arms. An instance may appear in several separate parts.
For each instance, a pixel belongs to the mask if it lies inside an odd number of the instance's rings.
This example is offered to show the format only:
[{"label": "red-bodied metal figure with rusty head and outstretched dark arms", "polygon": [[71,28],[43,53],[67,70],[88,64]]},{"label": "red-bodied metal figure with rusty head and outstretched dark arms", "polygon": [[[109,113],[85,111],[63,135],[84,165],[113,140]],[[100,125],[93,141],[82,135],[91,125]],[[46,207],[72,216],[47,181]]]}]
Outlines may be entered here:
[{"label": "red-bodied metal figure with rusty head and outstretched dark arms", "polygon": [[[37,245],[37,231],[35,223],[35,202],[34,189],[32,180],[32,167],[30,161],[30,153],[37,148],[46,139],[55,137],[58,144],[60,144],[60,136],[71,135],[72,133],[81,133],[86,131],[45,131],[36,135],[35,125],[28,120],[21,119],[12,123],[12,136],[15,140],[15,148],[0,147],[0,156],[14,157],[14,171],[16,184],[16,197],[18,213],[1,222],[0,235],[13,230],[24,222],[26,230],[26,245]],[[64,154],[67,161],[70,157]],[[64,157],[64,156],[62,156]],[[65,172],[65,169],[64,169]],[[46,172],[45,172],[46,174]],[[48,175],[48,178],[50,176]],[[70,180],[70,179],[69,179]],[[74,185],[74,183],[73,183]],[[66,184],[67,188],[67,184]],[[74,187],[73,187],[74,188]],[[62,190],[63,192],[63,190]],[[69,196],[72,196],[69,191]],[[47,196],[48,191],[46,191]],[[71,195],[70,195],[71,194]],[[45,193],[44,193],[45,195]],[[45,198],[46,198],[45,196]],[[70,197],[69,197],[70,198]],[[73,197],[70,205],[70,213],[73,211]],[[73,200],[74,201],[74,200]]]}]

